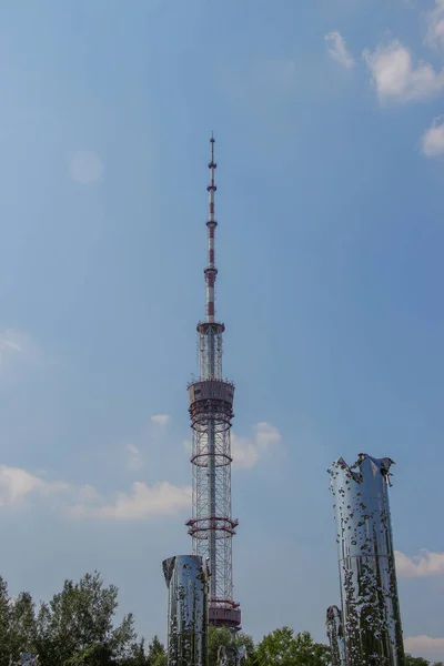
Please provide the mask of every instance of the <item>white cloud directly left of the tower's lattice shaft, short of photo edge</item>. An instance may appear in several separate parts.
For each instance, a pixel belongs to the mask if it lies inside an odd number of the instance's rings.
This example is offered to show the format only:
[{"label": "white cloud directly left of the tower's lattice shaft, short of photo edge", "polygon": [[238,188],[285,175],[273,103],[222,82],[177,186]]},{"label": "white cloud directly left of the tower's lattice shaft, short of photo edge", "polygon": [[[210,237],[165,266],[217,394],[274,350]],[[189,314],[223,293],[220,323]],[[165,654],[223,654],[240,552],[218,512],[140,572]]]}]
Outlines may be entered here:
[{"label": "white cloud directly left of the tower's lattice shaft, short of photo edge", "polygon": [[[154,516],[168,516],[191,506],[191,487],[173,486],[168,482],[148,486],[134,482],[130,493],[118,493],[114,502],[100,504],[77,504],[69,509],[73,517],[102,518],[112,521],[141,521]],[[99,505],[97,505],[99,503]]]}]

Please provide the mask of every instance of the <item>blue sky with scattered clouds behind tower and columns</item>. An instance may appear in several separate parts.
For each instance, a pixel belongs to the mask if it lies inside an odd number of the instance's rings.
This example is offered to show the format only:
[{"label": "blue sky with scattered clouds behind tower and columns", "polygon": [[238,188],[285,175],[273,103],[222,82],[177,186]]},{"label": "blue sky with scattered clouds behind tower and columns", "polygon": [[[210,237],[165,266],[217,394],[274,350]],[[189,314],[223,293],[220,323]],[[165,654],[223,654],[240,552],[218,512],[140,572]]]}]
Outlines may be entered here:
[{"label": "blue sky with scattered clouds behind tower and columns", "polygon": [[366,452],[396,462],[407,648],[444,657],[443,20],[432,0],[1,8],[12,593],[49,598],[99,568],[140,632],[164,636],[161,561],[190,551],[214,130],[244,628],[325,640],[326,470]]}]

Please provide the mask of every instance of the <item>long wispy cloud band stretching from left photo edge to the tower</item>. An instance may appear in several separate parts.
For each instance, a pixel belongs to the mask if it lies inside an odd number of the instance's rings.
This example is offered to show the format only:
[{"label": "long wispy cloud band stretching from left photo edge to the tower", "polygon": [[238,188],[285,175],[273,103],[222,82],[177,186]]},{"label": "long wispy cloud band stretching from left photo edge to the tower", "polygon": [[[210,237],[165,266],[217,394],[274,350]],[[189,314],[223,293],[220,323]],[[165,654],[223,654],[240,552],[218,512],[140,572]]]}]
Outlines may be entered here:
[{"label": "long wispy cloud band stretching from left photo edge to the tower", "polygon": [[37,497],[50,498],[52,508],[75,518],[138,521],[173,515],[189,507],[191,488],[167,481],[151,486],[134,482],[128,493],[104,496],[90,485],[47,481],[43,474],[0,465],[0,509],[26,508]]}]

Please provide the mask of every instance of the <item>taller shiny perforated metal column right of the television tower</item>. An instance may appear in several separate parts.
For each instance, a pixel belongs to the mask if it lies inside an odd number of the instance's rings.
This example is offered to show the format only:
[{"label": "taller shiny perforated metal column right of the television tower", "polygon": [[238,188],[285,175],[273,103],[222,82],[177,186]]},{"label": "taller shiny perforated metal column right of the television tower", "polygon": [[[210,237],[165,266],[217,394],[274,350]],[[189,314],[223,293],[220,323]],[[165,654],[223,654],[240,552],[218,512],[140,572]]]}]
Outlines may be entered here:
[{"label": "taller shiny perforated metal column right of the television tower", "polygon": [[332,464],[346,666],[403,666],[389,508],[391,458]]}]

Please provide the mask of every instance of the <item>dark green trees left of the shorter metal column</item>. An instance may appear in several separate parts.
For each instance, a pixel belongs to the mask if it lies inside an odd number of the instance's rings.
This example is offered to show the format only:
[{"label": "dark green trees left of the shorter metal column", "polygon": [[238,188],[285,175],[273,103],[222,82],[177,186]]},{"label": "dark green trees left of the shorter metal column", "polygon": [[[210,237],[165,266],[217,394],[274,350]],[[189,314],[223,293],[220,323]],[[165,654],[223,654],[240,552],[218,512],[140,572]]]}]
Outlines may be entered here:
[{"label": "dark green trees left of the shorter metal column", "polygon": [[65,581],[38,612],[28,593],[12,601],[0,578],[0,666],[22,650],[38,654],[42,666],[162,666],[148,664],[131,614],[114,626],[117,608],[117,587],[97,572]]}]

